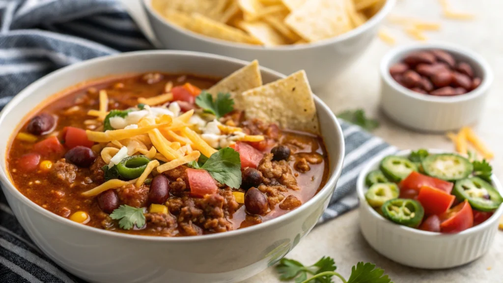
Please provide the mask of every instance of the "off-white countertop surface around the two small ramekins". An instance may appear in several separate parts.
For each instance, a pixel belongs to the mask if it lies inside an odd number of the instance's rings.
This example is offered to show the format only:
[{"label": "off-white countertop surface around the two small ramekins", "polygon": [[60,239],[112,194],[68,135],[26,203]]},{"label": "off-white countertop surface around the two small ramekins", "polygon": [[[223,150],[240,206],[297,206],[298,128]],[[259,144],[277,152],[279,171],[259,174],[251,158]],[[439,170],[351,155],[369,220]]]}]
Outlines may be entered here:
[{"label": "off-white countertop surface around the two small ramekins", "polygon": [[[134,12],[136,0],[122,0]],[[484,56],[494,72],[494,84],[480,121],[473,125],[478,135],[495,152],[494,173],[503,178],[503,23],[500,0],[449,0],[453,9],[476,14],[473,21],[445,20],[441,17],[438,0],[398,0],[392,12],[422,20],[441,22],[438,32],[428,32],[431,40],[449,41],[465,45]],[[137,7],[137,8],[136,8]],[[133,13],[135,18],[141,18]],[[138,14],[139,15],[139,14]],[[141,20],[140,20],[141,21]],[[398,44],[414,42],[399,27],[387,25]],[[391,46],[376,39],[365,54],[347,72],[334,78],[317,95],[335,112],[364,108],[371,117],[377,117],[381,127],[374,133],[388,143],[400,148],[438,148],[453,150],[453,145],[443,135],[417,133],[391,122],[379,111],[380,58]],[[498,147],[499,146],[499,147]],[[370,261],[384,268],[394,282],[501,282],[503,279],[503,232],[498,232],[494,246],[488,254],[470,264],[448,270],[422,270],[409,268],[376,253],[364,240],[358,227],[358,211],[354,210],[335,220],[314,228],[286,257],[312,264],[322,256],[333,257],[337,270],[349,277],[351,266],[358,261]],[[278,282],[273,267],[244,281]],[[337,281],[337,280],[336,280]]]}]

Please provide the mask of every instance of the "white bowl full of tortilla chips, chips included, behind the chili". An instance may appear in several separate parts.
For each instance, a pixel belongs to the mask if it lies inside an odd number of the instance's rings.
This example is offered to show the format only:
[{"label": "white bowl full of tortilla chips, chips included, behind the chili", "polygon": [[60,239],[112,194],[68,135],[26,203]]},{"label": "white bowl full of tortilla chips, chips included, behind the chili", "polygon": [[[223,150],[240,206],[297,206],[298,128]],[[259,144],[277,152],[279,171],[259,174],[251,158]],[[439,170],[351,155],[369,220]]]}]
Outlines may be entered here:
[{"label": "white bowl full of tortilla chips, chips included, behind the chili", "polygon": [[[352,1],[355,5],[348,5]],[[154,34],[165,48],[209,52],[248,61],[258,59],[262,65],[283,74],[305,69],[314,88],[334,79],[363,53],[395,2],[396,0],[142,0]],[[213,5],[205,5],[207,3]],[[215,16],[218,15],[215,9],[221,9],[219,3],[228,5],[224,8],[226,10],[220,10],[223,11],[220,18]],[[272,5],[264,9],[257,8],[264,7],[264,3]],[[284,9],[275,11],[282,3],[287,4]],[[304,4],[297,7],[294,3]],[[230,18],[225,14],[235,9],[232,5],[256,14],[244,13],[243,20],[236,21],[240,14]],[[359,7],[365,9],[355,10]],[[370,9],[373,10],[372,14],[367,13]],[[240,10],[237,11],[241,13]],[[366,19],[363,12],[373,16]],[[260,16],[266,13],[269,14]],[[253,22],[245,21],[247,18]],[[227,21],[228,25],[219,21]],[[231,24],[241,29],[229,26]],[[297,43],[303,44],[278,45],[292,43],[295,39]]]}]

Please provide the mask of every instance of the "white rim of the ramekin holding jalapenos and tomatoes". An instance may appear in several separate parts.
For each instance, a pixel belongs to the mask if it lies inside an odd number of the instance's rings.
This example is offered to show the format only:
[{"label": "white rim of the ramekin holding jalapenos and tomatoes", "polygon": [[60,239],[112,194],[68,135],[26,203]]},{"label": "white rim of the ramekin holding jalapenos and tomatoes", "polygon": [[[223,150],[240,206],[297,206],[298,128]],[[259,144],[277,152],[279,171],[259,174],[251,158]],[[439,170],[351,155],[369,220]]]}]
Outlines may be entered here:
[{"label": "white rim of the ramekin holding jalapenos and tomatoes", "polygon": [[[394,153],[393,155],[396,156],[408,156],[412,150],[402,150]],[[440,149],[428,149],[430,153],[434,154],[439,154],[439,153],[453,153],[449,152],[446,150],[440,150]],[[437,237],[437,238],[445,238],[445,237],[464,237],[467,235],[471,235],[474,233],[478,233],[481,230],[484,229],[489,229],[491,225],[493,225],[494,222],[497,222],[498,219],[501,217],[501,214],[503,214],[503,203],[499,205],[499,207],[494,211],[494,214],[488,218],[486,221],[482,222],[481,224],[468,228],[464,231],[461,231],[459,233],[441,233],[441,232],[430,232],[430,231],[423,231],[419,229],[414,229],[410,227],[406,227],[403,225],[398,225],[395,224],[387,219],[385,219],[383,216],[377,213],[375,209],[373,209],[365,199],[365,191],[367,191],[367,185],[365,184],[365,177],[367,174],[373,170],[376,166],[379,165],[381,162],[382,157],[375,157],[371,161],[368,162],[368,164],[362,169],[360,172],[360,175],[358,175],[357,183],[356,183],[356,190],[358,194],[358,198],[360,199],[360,205],[362,206],[361,208],[370,210],[370,214],[374,218],[375,221],[378,221],[380,225],[388,225],[388,227],[392,227],[394,229],[394,232],[397,233],[402,233],[405,235],[409,235],[411,237],[414,236],[426,236],[426,237]],[[501,186],[501,183],[499,180],[493,175],[492,176],[492,185],[499,191],[499,193],[503,194],[503,187]],[[360,216],[361,217],[361,216]]]}]

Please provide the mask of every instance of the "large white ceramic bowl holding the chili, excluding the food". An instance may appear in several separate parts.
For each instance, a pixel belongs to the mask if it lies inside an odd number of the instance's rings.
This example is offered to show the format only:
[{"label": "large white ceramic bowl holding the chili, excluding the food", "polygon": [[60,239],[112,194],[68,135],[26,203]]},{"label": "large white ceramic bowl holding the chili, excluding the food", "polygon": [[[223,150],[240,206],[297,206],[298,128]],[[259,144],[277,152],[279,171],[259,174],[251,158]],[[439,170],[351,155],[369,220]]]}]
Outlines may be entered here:
[{"label": "large white ceramic bowl holding the chili, excluding the food", "polygon": [[[109,75],[158,70],[224,77],[245,61],[186,51],[141,51],[97,58],[62,68],[19,93],[0,113],[0,148],[25,116],[52,95],[83,81]],[[284,75],[261,68],[264,83]],[[0,152],[2,189],[30,238],[58,265],[92,282],[237,282],[274,264],[316,224],[341,174],[344,138],[330,109],[314,97],[327,142],[326,184],[310,200],[265,223],[220,234],[193,237],[137,236],[72,222],[35,204],[13,185],[7,150]]]}]

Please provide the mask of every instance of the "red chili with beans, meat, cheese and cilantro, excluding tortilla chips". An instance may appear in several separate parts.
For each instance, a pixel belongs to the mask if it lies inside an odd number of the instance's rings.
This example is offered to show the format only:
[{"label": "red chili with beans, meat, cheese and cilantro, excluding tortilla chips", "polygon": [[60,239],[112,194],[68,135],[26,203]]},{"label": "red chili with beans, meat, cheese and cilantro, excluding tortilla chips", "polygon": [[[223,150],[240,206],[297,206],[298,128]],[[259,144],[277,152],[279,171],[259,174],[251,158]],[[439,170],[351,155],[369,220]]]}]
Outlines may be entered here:
[{"label": "red chili with beans, meat, cheese and cilantro, excluding tortilla chips", "polygon": [[73,89],[13,134],[11,178],[61,217],[141,235],[239,229],[309,200],[328,174],[321,137],[202,109],[216,82],[147,73]]}]

